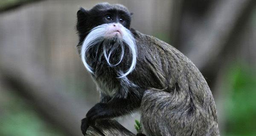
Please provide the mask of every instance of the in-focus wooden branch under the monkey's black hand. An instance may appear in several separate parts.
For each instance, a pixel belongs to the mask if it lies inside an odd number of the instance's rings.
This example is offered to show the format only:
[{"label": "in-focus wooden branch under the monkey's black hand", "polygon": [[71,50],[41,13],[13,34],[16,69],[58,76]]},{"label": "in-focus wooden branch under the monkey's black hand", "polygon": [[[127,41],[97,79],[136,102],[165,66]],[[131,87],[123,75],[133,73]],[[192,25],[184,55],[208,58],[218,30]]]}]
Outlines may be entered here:
[{"label": "in-focus wooden branch under the monkey's black hand", "polygon": [[115,120],[97,121],[95,127],[89,127],[86,136],[136,136]]}]

